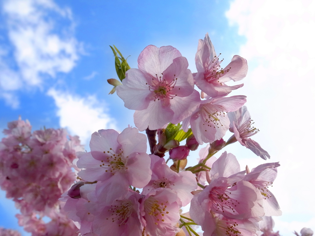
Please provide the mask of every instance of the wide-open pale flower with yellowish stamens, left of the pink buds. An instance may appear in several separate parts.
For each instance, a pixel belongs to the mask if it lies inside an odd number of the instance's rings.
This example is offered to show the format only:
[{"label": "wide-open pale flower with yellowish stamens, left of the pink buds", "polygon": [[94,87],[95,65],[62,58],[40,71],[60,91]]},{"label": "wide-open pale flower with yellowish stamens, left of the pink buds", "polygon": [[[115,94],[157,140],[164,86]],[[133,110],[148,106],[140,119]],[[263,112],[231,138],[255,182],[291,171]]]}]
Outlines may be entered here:
[{"label": "wide-open pale flower with yellowish stamens, left of the pink buds", "polygon": [[[85,181],[99,181],[96,192],[108,203],[127,194],[128,186],[143,188],[151,179],[151,159],[146,154],[146,136],[137,128],[94,132],[90,141],[91,152],[80,153],[78,172]],[[117,184],[126,188],[117,188]]]}]

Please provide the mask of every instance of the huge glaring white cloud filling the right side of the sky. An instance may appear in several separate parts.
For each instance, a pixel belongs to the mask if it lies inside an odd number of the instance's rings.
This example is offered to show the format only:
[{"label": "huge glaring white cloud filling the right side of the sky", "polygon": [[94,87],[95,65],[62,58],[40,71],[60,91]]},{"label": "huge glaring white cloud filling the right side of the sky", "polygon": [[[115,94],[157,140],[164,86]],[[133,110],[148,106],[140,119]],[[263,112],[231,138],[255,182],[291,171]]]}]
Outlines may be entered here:
[{"label": "huge glaring white cloud filling the right side of the sky", "polygon": [[315,1],[235,0],[226,17],[247,38],[239,52],[249,62],[242,91],[261,130],[257,141],[281,164],[272,192],[283,216],[275,219],[275,229],[285,235],[289,225],[290,232],[293,225],[311,227]]}]

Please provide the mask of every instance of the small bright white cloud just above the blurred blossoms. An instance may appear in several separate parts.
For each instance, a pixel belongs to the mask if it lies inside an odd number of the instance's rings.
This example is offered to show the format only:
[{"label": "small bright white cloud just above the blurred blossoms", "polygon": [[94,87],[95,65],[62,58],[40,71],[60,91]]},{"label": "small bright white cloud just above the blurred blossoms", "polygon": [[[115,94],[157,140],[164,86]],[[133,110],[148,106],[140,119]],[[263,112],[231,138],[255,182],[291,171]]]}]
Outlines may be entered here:
[{"label": "small bright white cloud just above the blurred blossoms", "polygon": [[60,126],[66,127],[72,135],[78,135],[81,142],[89,144],[91,134],[100,129],[115,129],[115,120],[94,96],[81,98],[77,95],[50,89],[48,95],[53,97],[58,107]]}]

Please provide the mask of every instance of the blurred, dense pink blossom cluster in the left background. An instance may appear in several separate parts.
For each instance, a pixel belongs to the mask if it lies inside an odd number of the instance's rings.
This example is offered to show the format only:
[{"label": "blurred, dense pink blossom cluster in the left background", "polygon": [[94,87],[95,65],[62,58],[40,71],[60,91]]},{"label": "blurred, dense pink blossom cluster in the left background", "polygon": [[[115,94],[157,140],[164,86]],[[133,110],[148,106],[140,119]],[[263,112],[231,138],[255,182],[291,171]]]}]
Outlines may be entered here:
[{"label": "blurred, dense pink blossom cluster in the left background", "polygon": [[[33,236],[77,235],[58,200],[75,182],[72,161],[82,151],[65,129],[31,132],[29,121],[10,122],[0,142],[0,187],[20,209],[19,224]],[[61,204],[61,205],[60,205]],[[44,222],[42,217],[52,220]],[[61,232],[61,233],[60,233]]]}]

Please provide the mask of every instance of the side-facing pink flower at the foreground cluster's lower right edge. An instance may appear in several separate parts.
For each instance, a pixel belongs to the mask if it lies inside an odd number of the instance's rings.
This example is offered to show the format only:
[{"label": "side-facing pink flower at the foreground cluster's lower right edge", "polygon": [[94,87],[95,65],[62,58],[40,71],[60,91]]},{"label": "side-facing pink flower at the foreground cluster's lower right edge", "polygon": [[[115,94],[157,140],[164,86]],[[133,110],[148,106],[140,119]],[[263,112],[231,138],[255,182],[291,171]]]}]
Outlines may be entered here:
[{"label": "side-facing pink flower at the foreground cluster's lower right edge", "polygon": [[277,177],[277,167],[280,166],[279,162],[266,163],[253,168],[250,173],[245,175],[244,180],[252,183],[263,197],[263,207],[266,216],[281,216],[276,197],[269,190],[269,186]]}]

